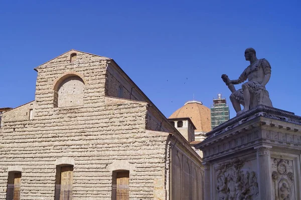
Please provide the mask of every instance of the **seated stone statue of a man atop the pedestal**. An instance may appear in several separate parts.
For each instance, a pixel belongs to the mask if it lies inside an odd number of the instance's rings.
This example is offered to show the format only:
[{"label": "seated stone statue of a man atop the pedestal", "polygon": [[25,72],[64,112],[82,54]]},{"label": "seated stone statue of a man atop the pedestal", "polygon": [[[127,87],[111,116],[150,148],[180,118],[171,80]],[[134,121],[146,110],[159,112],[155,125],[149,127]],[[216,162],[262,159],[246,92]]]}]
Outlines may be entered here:
[{"label": "seated stone statue of a man atop the pedestal", "polygon": [[[271,66],[267,60],[257,59],[256,52],[253,48],[245,51],[246,61],[250,61],[250,65],[243,71],[237,80],[230,80],[227,75],[223,74],[222,79],[231,90],[230,100],[237,115],[259,105],[272,106],[268,91],[265,85],[271,76]],[[236,90],[233,84],[243,83],[242,89]],[[240,104],[244,106],[241,110]]]}]

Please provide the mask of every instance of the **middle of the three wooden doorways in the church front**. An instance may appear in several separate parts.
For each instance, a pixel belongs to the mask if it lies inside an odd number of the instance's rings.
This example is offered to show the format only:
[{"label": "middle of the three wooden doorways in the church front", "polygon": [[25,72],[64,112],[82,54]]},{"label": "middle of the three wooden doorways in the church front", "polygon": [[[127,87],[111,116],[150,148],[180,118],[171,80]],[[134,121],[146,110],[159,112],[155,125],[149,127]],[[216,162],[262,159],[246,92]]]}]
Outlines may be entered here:
[{"label": "middle of the three wooden doorways in the church front", "polygon": [[73,166],[57,166],[55,180],[55,200],[71,200]]}]

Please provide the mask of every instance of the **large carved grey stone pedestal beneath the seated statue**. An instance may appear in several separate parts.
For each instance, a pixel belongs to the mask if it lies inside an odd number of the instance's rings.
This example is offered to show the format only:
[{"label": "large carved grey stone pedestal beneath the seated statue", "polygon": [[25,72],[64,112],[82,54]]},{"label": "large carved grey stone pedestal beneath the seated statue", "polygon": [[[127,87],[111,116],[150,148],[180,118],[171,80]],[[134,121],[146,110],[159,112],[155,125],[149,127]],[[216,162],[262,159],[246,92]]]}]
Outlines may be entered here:
[{"label": "large carved grey stone pedestal beneath the seated statue", "polygon": [[301,117],[259,105],[207,133],[205,199],[301,199]]}]

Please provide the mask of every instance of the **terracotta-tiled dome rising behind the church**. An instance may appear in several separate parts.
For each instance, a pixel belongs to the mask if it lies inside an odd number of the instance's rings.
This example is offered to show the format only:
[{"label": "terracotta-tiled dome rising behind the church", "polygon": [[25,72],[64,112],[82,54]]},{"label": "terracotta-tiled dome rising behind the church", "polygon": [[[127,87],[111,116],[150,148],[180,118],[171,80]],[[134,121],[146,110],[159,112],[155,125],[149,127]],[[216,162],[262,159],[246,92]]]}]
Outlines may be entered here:
[{"label": "terracotta-tiled dome rising behind the church", "polygon": [[169,118],[189,117],[196,126],[196,132],[211,131],[210,109],[200,101],[188,101],[185,105],[176,110]]}]

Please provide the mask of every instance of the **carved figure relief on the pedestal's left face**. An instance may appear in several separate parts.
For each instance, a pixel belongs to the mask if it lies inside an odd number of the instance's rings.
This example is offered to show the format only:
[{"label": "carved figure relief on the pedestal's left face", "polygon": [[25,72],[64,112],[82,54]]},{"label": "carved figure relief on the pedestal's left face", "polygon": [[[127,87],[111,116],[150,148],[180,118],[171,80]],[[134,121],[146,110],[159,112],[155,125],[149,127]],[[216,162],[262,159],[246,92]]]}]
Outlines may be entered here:
[{"label": "carved figure relief on the pedestal's left face", "polygon": [[242,170],[243,165],[241,159],[233,159],[215,166],[219,200],[258,200],[256,173]]}]

